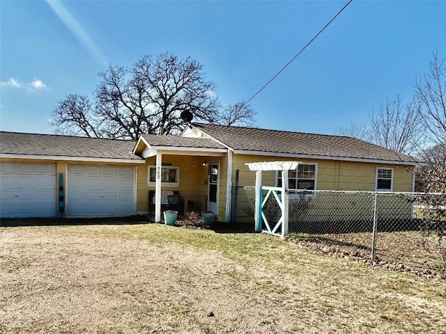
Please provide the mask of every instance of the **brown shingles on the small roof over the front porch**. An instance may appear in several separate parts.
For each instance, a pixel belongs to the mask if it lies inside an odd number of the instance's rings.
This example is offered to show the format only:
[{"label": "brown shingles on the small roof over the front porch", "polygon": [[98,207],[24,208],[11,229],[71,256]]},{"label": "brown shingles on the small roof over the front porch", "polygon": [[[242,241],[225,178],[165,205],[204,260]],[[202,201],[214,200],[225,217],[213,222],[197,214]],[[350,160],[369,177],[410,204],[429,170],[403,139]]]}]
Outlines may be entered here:
[{"label": "brown shingles on the small roof over the front porch", "polygon": [[143,134],[149,145],[173,146],[178,148],[225,148],[223,145],[208,138],[189,138],[177,136],[158,136],[156,134]]}]

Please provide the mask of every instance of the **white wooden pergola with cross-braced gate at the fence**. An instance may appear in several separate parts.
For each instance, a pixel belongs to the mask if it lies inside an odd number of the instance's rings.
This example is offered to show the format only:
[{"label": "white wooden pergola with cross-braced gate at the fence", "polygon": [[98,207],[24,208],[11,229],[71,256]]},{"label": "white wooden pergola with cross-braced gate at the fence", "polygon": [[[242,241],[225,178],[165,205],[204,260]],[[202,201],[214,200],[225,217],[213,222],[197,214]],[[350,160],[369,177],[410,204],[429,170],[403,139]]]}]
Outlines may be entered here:
[{"label": "white wooden pergola with cross-braced gate at the fence", "polygon": [[277,190],[281,191],[281,201],[279,202],[279,206],[282,209],[282,217],[276,225],[276,228],[272,231],[273,234],[275,230],[279,227],[280,223],[282,223],[282,238],[288,234],[288,196],[286,196],[286,190],[289,189],[288,186],[288,171],[298,169],[299,162],[298,161],[268,161],[268,162],[252,162],[249,164],[245,164],[249,167],[249,170],[256,172],[256,202],[254,209],[254,223],[255,230],[258,232],[262,232],[262,171],[263,170],[280,170],[286,171],[287,173],[282,173],[282,186],[281,187],[263,187],[264,189],[269,190]]}]

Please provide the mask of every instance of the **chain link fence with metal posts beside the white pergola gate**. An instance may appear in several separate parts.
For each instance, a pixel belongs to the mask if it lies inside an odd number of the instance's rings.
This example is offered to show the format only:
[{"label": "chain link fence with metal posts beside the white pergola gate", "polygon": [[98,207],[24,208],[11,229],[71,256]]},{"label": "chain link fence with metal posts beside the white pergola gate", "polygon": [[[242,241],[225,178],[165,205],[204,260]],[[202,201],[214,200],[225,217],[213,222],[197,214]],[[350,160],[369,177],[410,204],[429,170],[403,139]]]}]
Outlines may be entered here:
[{"label": "chain link fence with metal posts beside the white pergola gate", "polygon": [[[254,223],[254,187],[239,187],[238,196],[238,214]],[[293,239],[402,269],[446,273],[445,193],[289,189],[288,203]],[[263,214],[272,225],[279,221],[282,209],[274,196]]]}]

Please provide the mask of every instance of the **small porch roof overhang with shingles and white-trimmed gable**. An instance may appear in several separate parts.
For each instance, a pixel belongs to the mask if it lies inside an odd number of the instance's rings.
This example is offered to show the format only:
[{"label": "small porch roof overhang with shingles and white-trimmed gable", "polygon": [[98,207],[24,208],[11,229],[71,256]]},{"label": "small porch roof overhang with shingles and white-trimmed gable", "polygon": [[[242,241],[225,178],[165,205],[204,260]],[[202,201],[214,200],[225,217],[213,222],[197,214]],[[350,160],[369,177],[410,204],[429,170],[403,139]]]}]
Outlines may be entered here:
[{"label": "small porch roof overhang with shingles and white-trimmed gable", "polygon": [[221,157],[228,150],[208,138],[186,138],[144,134],[139,137],[133,153],[143,158],[155,157],[157,152],[176,155],[202,155]]}]

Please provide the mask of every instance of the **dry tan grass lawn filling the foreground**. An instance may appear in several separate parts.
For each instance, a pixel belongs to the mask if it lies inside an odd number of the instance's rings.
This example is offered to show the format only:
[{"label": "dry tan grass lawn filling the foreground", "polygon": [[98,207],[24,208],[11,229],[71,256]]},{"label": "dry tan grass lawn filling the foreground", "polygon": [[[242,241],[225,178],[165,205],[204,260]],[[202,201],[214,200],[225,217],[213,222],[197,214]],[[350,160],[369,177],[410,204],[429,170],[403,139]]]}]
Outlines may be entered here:
[{"label": "dry tan grass lawn filling the foreground", "polygon": [[0,333],[446,333],[446,282],[265,234],[0,228]]}]

